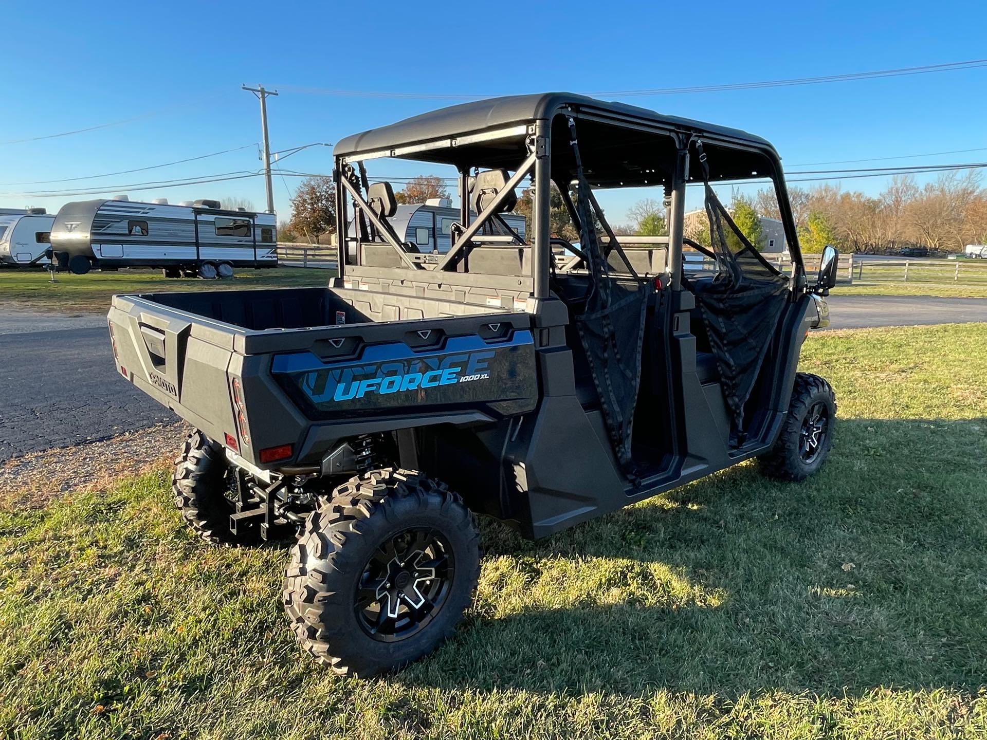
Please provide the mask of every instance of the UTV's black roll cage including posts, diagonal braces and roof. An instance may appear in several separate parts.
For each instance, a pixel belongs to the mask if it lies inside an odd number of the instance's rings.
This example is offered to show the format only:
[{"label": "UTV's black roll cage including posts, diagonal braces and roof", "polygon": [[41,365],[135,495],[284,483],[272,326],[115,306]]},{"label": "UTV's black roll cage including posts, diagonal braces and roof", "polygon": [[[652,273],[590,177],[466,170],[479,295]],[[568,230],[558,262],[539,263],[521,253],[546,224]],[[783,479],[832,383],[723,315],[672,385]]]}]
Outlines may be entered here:
[{"label": "UTV's black roll cage including posts, diagonal braces and roof", "polygon": [[[700,161],[700,152],[704,162]],[[781,161],[769,142],[739,129],[567,93],[549,93],[498,98],[425,113],[348,136],[337,145],[335,154],[337,233],[347,235],[340,239],[341,277],[347,265],[369,264],[362,250],[367,245],[390,247],[394,251],[392,261],[398,260],[391,266],[415,270],[417,279],[441,279],[439,275],[429,278],[430,272],[477,271],[464,265],[478,246],[516,245],[520,241],[516,234],[504,236],[497,222],[502,222],[500,213],[513,207],[515,188],[530,178],[533,228],[528,235],[530,259],[526,260],[524,276],[531,279],[531,295],[535,299],[548,298],[554,267],[551,185],[559,188],[573,224],[578,225],[578,209],[569,189],[581,178],[589,191],[580,193],[576,187],[577,198],[594,199],[593,188],[662,186],[668,212],[667,238],[622,236],[618,240],[598,205],[597,226],[604,232],[601,236],[606,252],[615,247],[620,250],[621,243],[667,244],[664,264],[659,270],[647,271],[659,272],[667,284],[677,288],[682,278],[685,186],[707,178],[711,184],[768,178],[775,185],[793,260],[793,285],[797,289],[805,286]],[[453,226],[452,246],[445,255],[418,254],[414,245],[406,244],[390,227],[387,217],[396,206],[390,185],[371,185],[364,168],[368,160],[385,157],[456,168],[462,194],[460,219]],[[483,197],[478,197],[476,188],[485,183],[491,186]],[[347,231],[348,206],[352,207],[352,219],[357,225],[353,236]],[[471,216],[471,206],[475,207],[475,218]],[[499,241],[490,234],[492,229],[499,229]]]}]

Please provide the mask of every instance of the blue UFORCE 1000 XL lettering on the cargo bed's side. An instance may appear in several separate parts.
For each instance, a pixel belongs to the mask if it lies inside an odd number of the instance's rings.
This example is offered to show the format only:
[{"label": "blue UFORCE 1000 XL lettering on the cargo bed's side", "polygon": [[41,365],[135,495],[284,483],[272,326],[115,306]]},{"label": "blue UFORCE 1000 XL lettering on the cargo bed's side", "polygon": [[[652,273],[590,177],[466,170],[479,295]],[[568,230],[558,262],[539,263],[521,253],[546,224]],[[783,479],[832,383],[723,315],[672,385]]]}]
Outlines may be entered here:
[{"label": "blue UFORCE 1000 XL lettering on the cargo bed's side", "polygon": [[490,380],[488,362],[494,354],[493,350],[484,350],[446,355],[441,359],[397,360],[380,365],[346,367],[330,372],[330,378],[327,379],[330,382],[322,393],[315,392],[318,381],[315,374],[307,376],[302,387],[309,393],[309,398],[318,404],[328,401],[331,389],[333,401],[341,402],[362,399],[367,394],[385,396],[419,388]]}]

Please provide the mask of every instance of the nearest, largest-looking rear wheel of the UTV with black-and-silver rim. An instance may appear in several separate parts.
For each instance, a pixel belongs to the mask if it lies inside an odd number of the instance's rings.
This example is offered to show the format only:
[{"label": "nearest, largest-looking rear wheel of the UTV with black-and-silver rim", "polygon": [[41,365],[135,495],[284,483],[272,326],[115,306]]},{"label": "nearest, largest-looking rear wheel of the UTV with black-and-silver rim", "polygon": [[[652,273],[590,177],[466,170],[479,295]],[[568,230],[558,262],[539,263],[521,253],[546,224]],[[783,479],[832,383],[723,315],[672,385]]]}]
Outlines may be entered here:
[{"label": "nearest, largest-looking rear wheel of the UTV with black-and-silver rim", "polygon": [[308,515],[284,572],[295,636],[338,674],[401,668],[452,634],[480,576],[463,499],[414,471],[351,479]]}]

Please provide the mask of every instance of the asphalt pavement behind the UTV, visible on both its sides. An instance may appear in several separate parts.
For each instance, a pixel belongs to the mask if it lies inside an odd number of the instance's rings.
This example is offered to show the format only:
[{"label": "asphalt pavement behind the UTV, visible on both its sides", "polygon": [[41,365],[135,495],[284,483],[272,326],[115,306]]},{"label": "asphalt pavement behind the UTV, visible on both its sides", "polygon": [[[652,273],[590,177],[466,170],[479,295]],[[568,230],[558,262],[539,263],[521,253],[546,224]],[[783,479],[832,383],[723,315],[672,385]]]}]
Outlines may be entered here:
[{"label": "asphalt pavement behind the UTV, visible on both its sides", "polygon": [[[987,322],[987,299],[832,295],[830,329]],[[177,416],[114,370],[106,318],[0,309],[0,461]]]}]

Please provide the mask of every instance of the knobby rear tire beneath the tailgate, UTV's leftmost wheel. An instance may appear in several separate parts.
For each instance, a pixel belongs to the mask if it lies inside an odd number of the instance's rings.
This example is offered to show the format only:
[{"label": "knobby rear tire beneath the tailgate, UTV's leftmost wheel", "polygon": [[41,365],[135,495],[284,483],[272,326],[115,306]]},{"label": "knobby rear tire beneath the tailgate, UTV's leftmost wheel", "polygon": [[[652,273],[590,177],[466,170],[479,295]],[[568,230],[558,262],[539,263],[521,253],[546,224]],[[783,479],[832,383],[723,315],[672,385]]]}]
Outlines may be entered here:
[{"label": "knobby rear tire beneath the tailgate, UTV's leftmost wheel", "polygon": [[222,450],[200,431],[189,435],[175,461],[175,506],[191,530],[210,545],[256,545],[261,539],[256,529],[241,535],[230,531],[230,514],[236,512],[233,475]]}]

